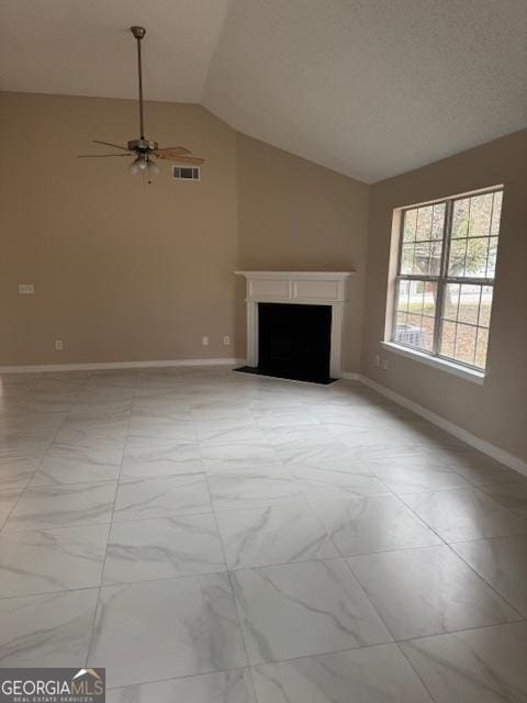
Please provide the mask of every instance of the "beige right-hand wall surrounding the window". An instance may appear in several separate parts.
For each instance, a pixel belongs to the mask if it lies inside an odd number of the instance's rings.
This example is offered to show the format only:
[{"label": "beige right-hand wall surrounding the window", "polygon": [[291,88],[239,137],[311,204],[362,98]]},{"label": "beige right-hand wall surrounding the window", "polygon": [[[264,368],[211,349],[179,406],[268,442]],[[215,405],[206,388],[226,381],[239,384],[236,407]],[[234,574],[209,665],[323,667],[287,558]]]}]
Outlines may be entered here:
[{"label": "beige right-hand wall surrounding the window", "polygon": [[[504,183],[496,287],[483,386],[383,352],[394,208]],[[492,444],[527,459],[527,131],[371,188],[362,372]],[[373,366],[382,354],[389,368]]]}]

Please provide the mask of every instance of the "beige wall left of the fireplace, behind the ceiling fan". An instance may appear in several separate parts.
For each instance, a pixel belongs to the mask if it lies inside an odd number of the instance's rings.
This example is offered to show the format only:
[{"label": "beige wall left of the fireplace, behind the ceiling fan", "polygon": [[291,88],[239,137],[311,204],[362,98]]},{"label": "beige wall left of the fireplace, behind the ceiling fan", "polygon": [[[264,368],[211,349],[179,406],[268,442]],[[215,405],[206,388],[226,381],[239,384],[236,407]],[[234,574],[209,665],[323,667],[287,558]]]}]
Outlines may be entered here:
[{"label": "beige wall left of the fireplace, behind the ceiling fan", "polygon": [[92,138],[137,134],[132,101],[0,99],[0,364],[233,356],[233,130],[197,105],[148,103],[147,135],[208,161],[200,183],[171,180],[165,164],[147,187],[127,158],[76,158],[112,152]]}]

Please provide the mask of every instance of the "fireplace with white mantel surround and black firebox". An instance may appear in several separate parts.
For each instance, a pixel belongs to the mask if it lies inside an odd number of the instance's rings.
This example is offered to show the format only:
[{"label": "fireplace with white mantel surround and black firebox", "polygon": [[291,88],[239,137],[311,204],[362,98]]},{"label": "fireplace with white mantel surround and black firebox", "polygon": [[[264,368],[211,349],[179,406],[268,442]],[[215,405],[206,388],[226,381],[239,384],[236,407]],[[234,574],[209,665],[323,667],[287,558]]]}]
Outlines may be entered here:
[{"label": "fireplace with white mantel surround and black firebox", "polygon": [[244,370],[328,383],[341,376],[350,271],[236,271],[247,279]]}]

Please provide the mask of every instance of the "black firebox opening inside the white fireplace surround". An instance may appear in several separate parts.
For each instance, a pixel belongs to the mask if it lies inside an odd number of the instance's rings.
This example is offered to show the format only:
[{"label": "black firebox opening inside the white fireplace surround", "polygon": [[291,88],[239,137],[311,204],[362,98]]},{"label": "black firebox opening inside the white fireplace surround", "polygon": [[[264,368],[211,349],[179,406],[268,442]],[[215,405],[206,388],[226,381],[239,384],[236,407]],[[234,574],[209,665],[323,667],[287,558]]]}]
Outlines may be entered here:
[{"label": "black firebox opening inside the white fireplace surround", "polygon": [[330,383],[330,305],[258,303],[258,368],[264,376]]}]

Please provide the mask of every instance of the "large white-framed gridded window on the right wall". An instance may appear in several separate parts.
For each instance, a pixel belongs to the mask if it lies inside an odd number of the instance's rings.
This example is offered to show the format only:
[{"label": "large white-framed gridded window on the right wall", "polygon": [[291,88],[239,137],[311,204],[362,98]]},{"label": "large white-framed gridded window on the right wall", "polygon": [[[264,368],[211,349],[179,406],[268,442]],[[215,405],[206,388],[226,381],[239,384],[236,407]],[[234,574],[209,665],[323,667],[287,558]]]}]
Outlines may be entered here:
[{"label": "large white-framed gridded window on the right wall", "polygon": [[484,370],[503,190],[402,210],[392,342]]}]

